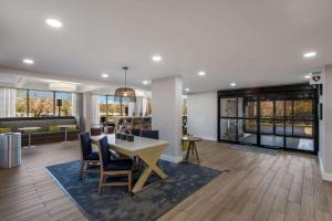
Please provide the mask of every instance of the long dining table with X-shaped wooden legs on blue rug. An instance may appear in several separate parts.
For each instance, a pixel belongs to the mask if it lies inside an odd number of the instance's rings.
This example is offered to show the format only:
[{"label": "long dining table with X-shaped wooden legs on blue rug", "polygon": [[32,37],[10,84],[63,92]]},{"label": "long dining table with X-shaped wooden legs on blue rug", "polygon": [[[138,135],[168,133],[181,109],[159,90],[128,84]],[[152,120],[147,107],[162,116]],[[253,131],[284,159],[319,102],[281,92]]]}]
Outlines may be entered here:
[{"label": "long dining table with X-shaped wooden legs on blue rug", "polygon": [[116,138],[115,134],[91,136],[91,140],[98,145],[100,139],[104,136],[107,136],[110,149],[128,157],[138,157],[146,164],[146,167],[132,189],[133,193],[137,193],[144,188],[144,185],[153,171],[160,179],[167,178],[167,175],[158,167],[158,160],[169,145],[168,141],[138,136],[134,136],[134,141],[127,141]]}]

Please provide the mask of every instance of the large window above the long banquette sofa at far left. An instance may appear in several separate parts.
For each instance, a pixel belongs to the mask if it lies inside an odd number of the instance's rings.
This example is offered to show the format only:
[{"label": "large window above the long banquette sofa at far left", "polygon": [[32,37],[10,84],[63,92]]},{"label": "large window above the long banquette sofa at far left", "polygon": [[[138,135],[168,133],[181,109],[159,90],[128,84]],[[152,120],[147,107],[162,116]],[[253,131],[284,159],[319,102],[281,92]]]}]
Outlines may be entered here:
[{"label": "large window above the long banquette sofa at far left", "polygon": [[[61,99],[61,106],[56,105],[59,99]],[[72,116],[73,105],[74,104],[72,93],[37,90],[17,90],[15,116]]]}]

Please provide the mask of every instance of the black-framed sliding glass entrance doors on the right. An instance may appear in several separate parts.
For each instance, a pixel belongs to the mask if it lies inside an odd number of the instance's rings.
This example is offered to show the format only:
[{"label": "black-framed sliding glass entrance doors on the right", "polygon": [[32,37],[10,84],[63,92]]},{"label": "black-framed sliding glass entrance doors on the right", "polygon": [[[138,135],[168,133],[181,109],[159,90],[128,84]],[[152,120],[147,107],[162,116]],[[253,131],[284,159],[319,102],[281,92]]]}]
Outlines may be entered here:
[{"label": "black-framed sliding glass entrance doors on the right", "polygon": [[315,151],[314,93],[219,95],[219,140]]}]

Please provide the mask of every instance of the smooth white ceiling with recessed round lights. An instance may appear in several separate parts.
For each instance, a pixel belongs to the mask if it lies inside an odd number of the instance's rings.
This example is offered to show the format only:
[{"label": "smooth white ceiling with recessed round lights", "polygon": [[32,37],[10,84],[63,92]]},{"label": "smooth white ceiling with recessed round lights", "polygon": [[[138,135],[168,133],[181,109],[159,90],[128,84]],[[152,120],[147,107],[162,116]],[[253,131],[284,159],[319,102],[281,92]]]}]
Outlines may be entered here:
[{"label": "smooth white ceiling with recessed round lights", "polygon": [[104,83],[107,72],[110,84],[128,65],[133,85],[181,75],[191,92],[298,83],[332,63],[331,11],[331,0],[0,0],[0,65]]}]

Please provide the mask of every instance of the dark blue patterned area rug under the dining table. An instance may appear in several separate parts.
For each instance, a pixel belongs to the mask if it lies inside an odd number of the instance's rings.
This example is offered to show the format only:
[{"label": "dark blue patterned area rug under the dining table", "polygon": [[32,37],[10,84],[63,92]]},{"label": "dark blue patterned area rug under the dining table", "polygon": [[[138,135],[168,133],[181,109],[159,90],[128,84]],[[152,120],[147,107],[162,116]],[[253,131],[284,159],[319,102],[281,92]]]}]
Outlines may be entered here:
[{"label": "dark blue patterned area rug under the dining table", "polygon": [[168,177],[159,180],[156,175],[151,176],[152,185],[135,196],[124,187],[105,187],[102,194],[97,194],[98,173],[87,173],[80,181],[79,161],[50,166],[48,170],[93,221],[156,220],[221,173],[186,162],[159,160],[159,167]]}]

